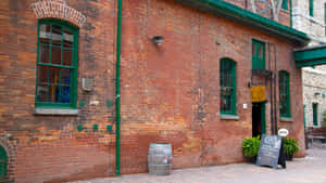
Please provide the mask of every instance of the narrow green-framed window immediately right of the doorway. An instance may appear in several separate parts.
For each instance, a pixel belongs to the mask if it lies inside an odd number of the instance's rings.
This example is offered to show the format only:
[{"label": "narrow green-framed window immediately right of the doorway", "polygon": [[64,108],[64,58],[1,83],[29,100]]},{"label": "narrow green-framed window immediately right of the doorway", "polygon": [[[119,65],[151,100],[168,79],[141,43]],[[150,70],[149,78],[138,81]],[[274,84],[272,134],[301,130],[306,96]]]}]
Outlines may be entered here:
[{"label": "narrow green-framed window immediately right of the doorway", "polygon": [[279,89],[279,115],[280,117],[291,117],[290,102],[290,76],[287,71],[278,71]]}]

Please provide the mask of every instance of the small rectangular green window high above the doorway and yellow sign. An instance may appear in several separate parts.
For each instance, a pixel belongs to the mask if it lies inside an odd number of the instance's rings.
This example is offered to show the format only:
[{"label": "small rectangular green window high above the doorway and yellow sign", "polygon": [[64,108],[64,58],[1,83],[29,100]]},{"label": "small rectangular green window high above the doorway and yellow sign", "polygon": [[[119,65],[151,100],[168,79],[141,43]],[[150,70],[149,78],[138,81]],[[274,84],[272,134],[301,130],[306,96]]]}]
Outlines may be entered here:
[{"label": "small rectangular green window high above the doorway and yellow sign", "polygon": [[265,69],[265,42],[252,40],[252,68]]}]

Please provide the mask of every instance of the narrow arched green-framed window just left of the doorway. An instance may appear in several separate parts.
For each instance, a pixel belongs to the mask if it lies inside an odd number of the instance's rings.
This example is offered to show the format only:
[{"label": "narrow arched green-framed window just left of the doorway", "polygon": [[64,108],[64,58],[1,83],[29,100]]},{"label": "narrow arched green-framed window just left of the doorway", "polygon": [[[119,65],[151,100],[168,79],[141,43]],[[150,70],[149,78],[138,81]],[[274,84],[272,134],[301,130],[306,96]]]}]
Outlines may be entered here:
[{"label": "narrow arched green-framed window just left of the doorway", "polygon": [[221,113],[237,114],[236,62],[230,58],[220,61]]}]

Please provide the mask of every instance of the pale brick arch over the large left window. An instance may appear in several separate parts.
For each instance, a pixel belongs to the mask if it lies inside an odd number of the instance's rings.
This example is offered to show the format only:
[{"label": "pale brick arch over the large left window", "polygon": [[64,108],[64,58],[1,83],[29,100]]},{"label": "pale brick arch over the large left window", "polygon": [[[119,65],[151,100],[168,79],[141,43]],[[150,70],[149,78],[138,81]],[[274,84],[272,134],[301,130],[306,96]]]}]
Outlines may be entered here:
[{"label": "pale brick arch over the large left window", "polygon": [[39,0],[32,4],[37,18],[59,18],[83,27],[86,16],[67,5],[65,0]]}]

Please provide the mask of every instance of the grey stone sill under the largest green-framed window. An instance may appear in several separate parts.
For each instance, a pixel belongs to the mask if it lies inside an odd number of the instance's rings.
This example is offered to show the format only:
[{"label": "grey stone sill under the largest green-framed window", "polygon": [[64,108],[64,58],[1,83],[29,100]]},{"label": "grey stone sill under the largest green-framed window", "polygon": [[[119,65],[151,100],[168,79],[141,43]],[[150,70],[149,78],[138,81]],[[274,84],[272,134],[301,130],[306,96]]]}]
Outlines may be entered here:
[{"label": "grey stone sill under the largest green-framed window", "polygon": [[34,115],[78,116],[78,109],[70,108],[34,108]]}]

